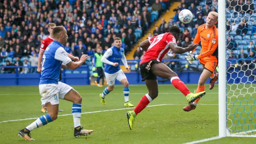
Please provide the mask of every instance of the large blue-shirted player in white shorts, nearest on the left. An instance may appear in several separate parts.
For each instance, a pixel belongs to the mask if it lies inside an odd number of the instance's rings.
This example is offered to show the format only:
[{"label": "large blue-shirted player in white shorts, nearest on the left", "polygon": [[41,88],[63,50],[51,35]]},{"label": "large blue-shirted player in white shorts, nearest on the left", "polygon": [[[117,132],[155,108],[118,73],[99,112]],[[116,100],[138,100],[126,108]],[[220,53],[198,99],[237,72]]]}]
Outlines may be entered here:
[{"label": "large blue-shirted player in white shorts, nearest on the left", "polygon": [[[85,130],[81,127],[82,97],[71,86],[58,82],[61,68],[75,70],[88,58],[83,54],[78,62],[72,62],[63,48],[67,42],[67,31],[63,26],[56,26],[52,33],[54,41],[46,48],[42,60],[42,73],[39,82],[39,92],[42,105],[45,105],[48,114],[40,116],[32,124],[20,130],[18,135],[25,140],[34,140],[30,132],[52,122],[58,117],[59,98],[73,102],[72,115],[74,119],[74,136],[87,136],[93,130]],[[63,63],[63,64],[62,64]]]}]

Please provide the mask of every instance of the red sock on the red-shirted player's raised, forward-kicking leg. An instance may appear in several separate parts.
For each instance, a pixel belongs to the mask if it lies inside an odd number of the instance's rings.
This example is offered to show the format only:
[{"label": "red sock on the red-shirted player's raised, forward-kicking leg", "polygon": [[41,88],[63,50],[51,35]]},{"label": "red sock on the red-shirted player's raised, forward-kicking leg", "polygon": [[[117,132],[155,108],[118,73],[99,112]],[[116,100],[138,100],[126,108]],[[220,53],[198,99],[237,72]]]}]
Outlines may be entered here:
[{"label": "red sock on the red-shirted player's raised, forward-kicking leg", "polygon": [[189,91],[188,87],[180,80],[180,78],[178,76],[174,76],[171,78],[171,83],[172,85],[177,88],[178,90],[180,90],[180,92],[182,92],[182,94],[184,94],[184,96],[187,96],[188,94],[190,94],[191,92]]}]

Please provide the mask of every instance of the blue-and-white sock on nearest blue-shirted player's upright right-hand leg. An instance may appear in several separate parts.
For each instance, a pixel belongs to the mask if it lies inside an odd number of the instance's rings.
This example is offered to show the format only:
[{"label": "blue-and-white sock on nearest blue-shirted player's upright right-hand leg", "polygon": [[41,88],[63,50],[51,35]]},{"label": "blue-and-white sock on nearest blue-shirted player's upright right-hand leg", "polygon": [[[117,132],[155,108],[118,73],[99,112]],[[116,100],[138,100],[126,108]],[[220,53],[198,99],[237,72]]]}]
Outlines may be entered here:
[{"label": "blue-and-white sock on nearest blue-shirted player's upright right-hand leg", "polygon": [[72,115],[73,115],[73,120],[74,120],[74,128],[81,126],[81,124],[80,124],[81,110],[82,110],[82,104],[73,103]]}]

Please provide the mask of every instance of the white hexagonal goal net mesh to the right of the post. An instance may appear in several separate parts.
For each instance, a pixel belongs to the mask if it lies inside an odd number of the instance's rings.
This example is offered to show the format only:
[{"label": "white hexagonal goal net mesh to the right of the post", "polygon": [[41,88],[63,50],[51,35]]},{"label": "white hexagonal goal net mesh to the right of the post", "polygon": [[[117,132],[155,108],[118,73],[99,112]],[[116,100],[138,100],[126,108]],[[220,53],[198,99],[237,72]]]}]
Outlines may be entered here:
[{"label": "white hexagonal goal net mesh to the right of the post", "polygon": [[227,128],[256,135],[256,0],[226,1]]}]

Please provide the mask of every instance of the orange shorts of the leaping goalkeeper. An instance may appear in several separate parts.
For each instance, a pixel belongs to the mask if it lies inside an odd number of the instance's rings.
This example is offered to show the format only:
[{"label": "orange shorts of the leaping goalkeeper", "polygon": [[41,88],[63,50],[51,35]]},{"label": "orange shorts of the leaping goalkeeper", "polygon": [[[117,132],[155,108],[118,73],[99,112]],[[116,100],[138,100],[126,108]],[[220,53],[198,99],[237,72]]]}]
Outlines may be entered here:
[{"label": "orange shorts of the leaping goalkeeper", "polygon": [[218,59],[216,56],[207,56],[205,58],[201,58],[199,59],[199,62],[204,65],[204,69],[209,70],[212,73],[218,66]]}]

